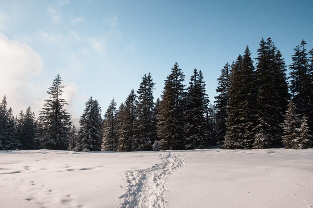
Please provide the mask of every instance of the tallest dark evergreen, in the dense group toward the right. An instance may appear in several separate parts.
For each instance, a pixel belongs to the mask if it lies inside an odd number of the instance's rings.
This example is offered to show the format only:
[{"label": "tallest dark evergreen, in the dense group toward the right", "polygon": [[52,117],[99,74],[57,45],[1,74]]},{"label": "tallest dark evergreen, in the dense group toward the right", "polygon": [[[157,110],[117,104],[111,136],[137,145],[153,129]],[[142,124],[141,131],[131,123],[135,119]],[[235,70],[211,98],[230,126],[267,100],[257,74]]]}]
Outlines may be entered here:
[{"label": "tallest dark evergreen, in the dense group toward the right", "polygon": [[253,148],[272,148],[280,145],[284,109],[288,92],[285,67],[281,54],[271,38],[260,41],[256,64],[257,122]]}]

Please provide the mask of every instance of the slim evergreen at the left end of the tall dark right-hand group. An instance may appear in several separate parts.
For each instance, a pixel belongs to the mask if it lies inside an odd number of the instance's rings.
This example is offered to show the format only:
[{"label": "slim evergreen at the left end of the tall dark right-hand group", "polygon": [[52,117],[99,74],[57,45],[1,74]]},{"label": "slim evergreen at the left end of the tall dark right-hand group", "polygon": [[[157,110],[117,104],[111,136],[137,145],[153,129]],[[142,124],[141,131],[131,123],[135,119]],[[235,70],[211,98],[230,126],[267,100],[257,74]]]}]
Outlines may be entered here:
[{"label": "slim evergreen at the left end of the tall dark right-hand group", "polygon": [[228,89],[229,89],[229,71],[228,62],[221,70],[221,75],[217,79],[218,86],[216,92],[219,93],[215,98],[214,104],[216,108],[216,144],[220,145],[224,141],[226,133],[226,117],[228,107]]}]

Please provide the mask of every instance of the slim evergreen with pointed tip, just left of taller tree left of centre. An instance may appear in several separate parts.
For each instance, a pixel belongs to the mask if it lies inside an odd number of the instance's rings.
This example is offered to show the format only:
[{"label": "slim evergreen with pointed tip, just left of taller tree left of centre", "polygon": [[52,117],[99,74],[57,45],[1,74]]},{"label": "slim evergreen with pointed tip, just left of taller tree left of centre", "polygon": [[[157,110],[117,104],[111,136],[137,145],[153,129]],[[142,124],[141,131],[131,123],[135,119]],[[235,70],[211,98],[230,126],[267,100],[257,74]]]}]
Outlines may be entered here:
[{"label": "slim evergreen with pointed tip, just left of taller tree left of centre", "polygon": [[125,100],[119,118],[119,146],[118,151],[129,152],[133,150],[134,123],[136,119],[136,95],[133,90]]}]

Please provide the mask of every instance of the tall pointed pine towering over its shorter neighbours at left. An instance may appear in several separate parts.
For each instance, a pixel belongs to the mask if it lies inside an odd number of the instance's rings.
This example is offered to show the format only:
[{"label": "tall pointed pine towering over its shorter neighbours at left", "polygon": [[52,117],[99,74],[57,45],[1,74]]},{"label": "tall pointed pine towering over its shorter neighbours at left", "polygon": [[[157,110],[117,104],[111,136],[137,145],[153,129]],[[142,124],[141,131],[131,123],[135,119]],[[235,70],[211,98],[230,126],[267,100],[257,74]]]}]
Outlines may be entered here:
[{"label": "tall pointed pine towering over its shorter neighbours at left", "polygon": [[41,143],[45,149],[67,150],[71,122],[69,113],[63,108],[67,105],[61,98],[63,87],[61,78],[57,74],[47,91],[49,99],[44,100],[45,103],[40,111]]}]

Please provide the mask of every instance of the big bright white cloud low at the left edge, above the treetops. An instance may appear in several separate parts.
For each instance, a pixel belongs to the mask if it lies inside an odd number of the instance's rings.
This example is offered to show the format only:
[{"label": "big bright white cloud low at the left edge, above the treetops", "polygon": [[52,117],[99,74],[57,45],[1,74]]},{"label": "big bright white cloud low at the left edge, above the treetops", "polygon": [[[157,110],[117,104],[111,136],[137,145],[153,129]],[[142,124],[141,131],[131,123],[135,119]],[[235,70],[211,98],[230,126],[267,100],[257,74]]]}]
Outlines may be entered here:
[{"label": "big bright white cloud low at the left edge, above the treetops", "polygon": [[40,56],[29,46],[9,40],[3,34],[0,45],[0,96],[6,95],[15,114],[27,106],[33,109],[39,91],[31,80],[43,69]]}]

